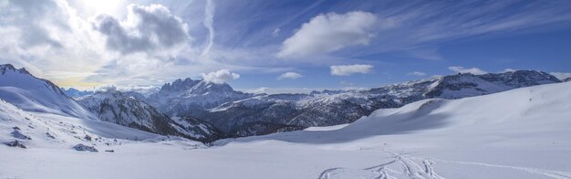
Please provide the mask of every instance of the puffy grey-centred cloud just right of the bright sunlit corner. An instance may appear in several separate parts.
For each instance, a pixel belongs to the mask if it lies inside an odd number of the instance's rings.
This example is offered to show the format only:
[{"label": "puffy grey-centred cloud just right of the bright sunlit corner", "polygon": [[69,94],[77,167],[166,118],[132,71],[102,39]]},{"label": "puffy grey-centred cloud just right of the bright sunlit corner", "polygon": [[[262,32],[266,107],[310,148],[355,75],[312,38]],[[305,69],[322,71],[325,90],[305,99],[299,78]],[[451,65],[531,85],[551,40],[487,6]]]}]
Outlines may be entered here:
[{"label": "puffy grey-centred cloud just right of the bright sunlit corner", "polygon": [[124,21],[100,15],[95,28],[107,37],[107,48],[122,54],[154,52],[185,44],[188,25],[163,5],[129,5]]}]

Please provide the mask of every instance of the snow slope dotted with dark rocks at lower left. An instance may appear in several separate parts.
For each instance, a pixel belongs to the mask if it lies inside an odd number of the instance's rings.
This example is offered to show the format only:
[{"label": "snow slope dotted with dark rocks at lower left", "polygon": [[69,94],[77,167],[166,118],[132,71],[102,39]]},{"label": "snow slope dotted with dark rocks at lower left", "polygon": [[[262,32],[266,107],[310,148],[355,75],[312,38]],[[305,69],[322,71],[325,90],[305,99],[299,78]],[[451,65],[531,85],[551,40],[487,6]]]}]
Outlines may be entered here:
[{"label": "snow slope dotted with dark rocks at lower left", "polygon": [[0,99],[0,142],[3,143],[17,140],[28,149],[71,150],[70,147],[78,143],[90,146],[110,146],[134,140],[161,141],[164,139],[167,137],[105,121],[23,111]]}]

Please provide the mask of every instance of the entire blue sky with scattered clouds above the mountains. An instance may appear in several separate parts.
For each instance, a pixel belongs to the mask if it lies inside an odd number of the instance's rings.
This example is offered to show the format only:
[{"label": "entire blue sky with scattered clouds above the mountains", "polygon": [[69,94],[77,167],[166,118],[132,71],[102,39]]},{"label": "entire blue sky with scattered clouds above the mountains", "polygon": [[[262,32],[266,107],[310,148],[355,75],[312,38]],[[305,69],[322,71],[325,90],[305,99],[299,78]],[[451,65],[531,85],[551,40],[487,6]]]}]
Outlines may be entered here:
[{"label": "entire blue sky with scattered clouds above the mountains", "polygon": [[571,77],[569,1],[5,1],[0,38],[3,63],[80,89],[186,77],[248,91],[351,89],[512,69]]}]

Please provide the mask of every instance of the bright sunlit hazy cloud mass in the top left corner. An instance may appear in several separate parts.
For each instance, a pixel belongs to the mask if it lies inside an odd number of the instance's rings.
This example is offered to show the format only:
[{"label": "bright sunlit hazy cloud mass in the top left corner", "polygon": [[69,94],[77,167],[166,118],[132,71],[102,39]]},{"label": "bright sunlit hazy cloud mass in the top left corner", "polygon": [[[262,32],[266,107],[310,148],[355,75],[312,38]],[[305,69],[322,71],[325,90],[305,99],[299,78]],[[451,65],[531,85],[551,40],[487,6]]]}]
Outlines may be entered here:
[{"label": "bright sunlit hazy cloud mass in the top left corner", "polygon": [[0,2],[1,60],[58,85],[81,82],[109,57],[77,13],[65,0]]}]

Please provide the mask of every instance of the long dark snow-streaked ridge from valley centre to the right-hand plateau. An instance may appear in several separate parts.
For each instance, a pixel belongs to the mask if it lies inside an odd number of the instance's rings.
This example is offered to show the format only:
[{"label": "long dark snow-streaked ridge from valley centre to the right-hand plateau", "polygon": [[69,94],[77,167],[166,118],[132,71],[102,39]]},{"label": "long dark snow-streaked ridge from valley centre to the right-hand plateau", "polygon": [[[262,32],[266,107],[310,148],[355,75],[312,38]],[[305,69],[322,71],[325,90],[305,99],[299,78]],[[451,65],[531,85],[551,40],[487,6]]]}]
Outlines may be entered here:
[{"label": "long dark snow-streaked ridge from valley centre to the right-hand plateau", "polygon": [[[561,82],[540,71],[519,70],[497,74],[455,74],[403,82],[368,90],[311,94],[257,95],[201,111],[174,112],[209,121],[237,136],[291,131],[356,121],[384,108],[424,99],[460,99],[540,84]],[[184,111],[186,110],[186,111]],[[283,128],[283,129],[282,129]]]}]

